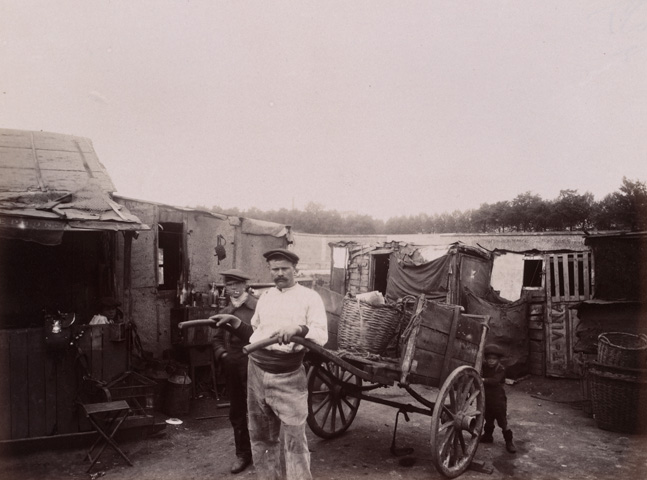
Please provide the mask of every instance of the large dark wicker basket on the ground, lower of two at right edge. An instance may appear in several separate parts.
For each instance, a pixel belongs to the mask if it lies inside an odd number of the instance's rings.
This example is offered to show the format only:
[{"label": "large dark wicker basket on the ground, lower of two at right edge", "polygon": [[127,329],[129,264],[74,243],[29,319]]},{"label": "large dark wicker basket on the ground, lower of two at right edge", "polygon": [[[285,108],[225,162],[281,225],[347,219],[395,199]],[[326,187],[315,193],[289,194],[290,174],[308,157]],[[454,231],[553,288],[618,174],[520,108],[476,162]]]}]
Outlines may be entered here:
[{"label": "large dark wicker basket on the ground, lower of two at right edge", "polygon": [[647,370],[592,363],[588,379],[599,428],[623,433],[646,431]]}]

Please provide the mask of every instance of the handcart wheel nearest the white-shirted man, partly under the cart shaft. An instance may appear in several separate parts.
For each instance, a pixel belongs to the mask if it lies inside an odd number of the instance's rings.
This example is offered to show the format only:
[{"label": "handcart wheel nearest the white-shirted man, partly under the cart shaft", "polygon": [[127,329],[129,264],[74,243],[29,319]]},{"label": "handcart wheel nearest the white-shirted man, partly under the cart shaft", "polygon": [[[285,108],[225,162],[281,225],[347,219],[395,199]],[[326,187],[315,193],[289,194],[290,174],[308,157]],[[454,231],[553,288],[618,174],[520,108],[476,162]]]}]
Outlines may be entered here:
[{"label": "handcart wheel nearest the white-shirted man, partly under the cart shaft", "polygon": [[362,379],[334,362],[313,364],[308,373],[308,426],[321,438],[335,438],[353,423],[359,398],[349,395]]}]

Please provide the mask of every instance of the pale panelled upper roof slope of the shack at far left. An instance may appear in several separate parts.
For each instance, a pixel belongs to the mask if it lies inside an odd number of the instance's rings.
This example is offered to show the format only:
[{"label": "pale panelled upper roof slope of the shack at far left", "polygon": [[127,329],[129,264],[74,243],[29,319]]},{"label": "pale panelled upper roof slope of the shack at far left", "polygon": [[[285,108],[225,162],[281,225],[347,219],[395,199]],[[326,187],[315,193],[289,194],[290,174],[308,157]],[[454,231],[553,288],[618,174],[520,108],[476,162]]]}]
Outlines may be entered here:
[{"label": "pale panelled upper roof slope of the shack at far left", "polygon": [[0,198],[27,192],[73,192],[95,179],[115,186],[88,138],[0,129]]}]

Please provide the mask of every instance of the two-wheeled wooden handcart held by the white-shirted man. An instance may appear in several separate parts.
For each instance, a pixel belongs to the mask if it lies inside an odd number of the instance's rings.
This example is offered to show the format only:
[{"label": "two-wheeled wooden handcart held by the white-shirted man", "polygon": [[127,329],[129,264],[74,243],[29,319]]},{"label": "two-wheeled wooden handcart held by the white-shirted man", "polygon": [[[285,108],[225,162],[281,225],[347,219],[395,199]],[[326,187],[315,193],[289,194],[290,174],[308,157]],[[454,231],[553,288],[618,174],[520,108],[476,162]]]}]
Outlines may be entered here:
[{"label": "two-wheeled wooden handcart held by the white-shirted man", "polygon": [[[362,400],[431,417],[431,453],[436,469],[448,478],[471,464],[484,423],[485,398],[480,370],[489,316],[467,315],[462,308],[417,300],[401,339],[399,358],[329,350],[309,340],[292,341],[308,349],[308,426],[322,438],[335,438],[353,423]],[[194,321],[195,322],[195,321]],[[276,343],[269,338],[247,345],[251,353]],[[435,398],[412,388],[438,388]],[[371,390],[398,386],[417,403],[400,403],[371,395]],[[395,431],[391,450],[395,450]]]}]

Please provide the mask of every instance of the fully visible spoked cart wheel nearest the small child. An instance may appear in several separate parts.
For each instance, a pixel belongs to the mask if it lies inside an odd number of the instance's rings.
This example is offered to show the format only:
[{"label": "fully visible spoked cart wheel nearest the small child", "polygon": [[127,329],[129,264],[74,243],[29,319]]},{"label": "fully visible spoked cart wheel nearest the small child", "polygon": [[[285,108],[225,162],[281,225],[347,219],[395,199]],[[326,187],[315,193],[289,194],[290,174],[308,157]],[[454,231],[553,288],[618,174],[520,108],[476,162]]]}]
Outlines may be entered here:
[{"label": "fully visible spoked cart wheel nearest the small child", "polygon": [[448,478],[469,467],[485,419],[483,380],[469,366],[454,370],[438,392],[431,416],[431,456]]}]

